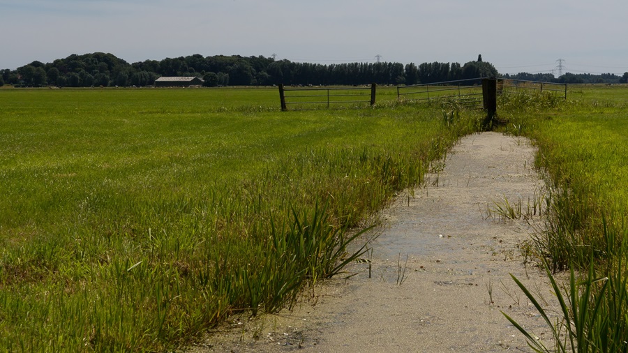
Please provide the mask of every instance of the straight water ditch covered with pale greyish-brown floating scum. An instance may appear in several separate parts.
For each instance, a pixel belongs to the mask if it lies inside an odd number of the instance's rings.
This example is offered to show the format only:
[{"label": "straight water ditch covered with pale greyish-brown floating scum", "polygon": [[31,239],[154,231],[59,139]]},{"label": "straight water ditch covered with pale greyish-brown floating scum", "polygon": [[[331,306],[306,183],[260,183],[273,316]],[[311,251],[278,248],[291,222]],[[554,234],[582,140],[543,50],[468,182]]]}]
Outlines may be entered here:
[{"label": "straight water ditch covered with pale greyish-brown floating scum", "polygon": [[507,202],[518,209],[521,200],[521,212],[534,222],[543,183],[533,158],[523,138],[463,137],[424,188],[383,211],[371,263],[347,269],[356,276],[315,287],[292,313],[234,320],[235,329],[215,332],[192,350],[530,351],[501,311],[548,342],[544,320],[509,276],[551,297],[541,271],[525,265],[530,226],[498,211]]}]

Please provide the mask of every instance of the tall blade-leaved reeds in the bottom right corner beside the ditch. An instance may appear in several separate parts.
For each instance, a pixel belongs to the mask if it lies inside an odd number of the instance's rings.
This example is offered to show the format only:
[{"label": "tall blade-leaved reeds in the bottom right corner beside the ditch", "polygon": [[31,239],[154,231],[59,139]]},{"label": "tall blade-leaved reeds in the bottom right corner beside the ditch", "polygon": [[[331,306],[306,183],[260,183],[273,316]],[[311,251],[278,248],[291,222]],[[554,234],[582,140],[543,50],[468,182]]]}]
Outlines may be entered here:
[{"label": "tall blade-leaved reeds in the bottom right corner beside the ditch", "polygon": [[[528,338],[535,352],[627,352],[628,351],[628,273],[626,255],[628,234],[620,234],[622,246],[614,250],[612,262],[604,266],[595,264],[591,254],[590,265],[584,273],[569,269],[569,283],[561,285],[545,263],[552,290],[558,299],[559,320],[551,320],[549,313],[534,295],[516,278],[514,281],[530,299],[541,317],[551,328],[553,347],[523,328],[511,317],[504,315]],[[607,233],[608,237],[615,234]],[[614,239],[613,239],[614,240]]]}]

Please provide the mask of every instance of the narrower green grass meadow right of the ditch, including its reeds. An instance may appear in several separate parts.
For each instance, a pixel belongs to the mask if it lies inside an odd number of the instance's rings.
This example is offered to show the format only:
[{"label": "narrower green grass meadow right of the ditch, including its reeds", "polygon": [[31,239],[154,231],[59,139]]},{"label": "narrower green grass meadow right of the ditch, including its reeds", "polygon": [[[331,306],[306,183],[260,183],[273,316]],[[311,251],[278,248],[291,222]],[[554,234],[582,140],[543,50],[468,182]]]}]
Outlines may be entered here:
[{"label": "narrower green grass meadow right of the ditch, including its reeds", "polygon": [[[570,87],[567,101],[503,98],[510,133],[528,135],[546,175],[546,219],[533,236],[562,320],[518,283],[553,328],[536,352],[628,351],[628,87]],[[567,283],[554,277],[568,271]],[[516,324],[516,323],[515,323]]]}]

